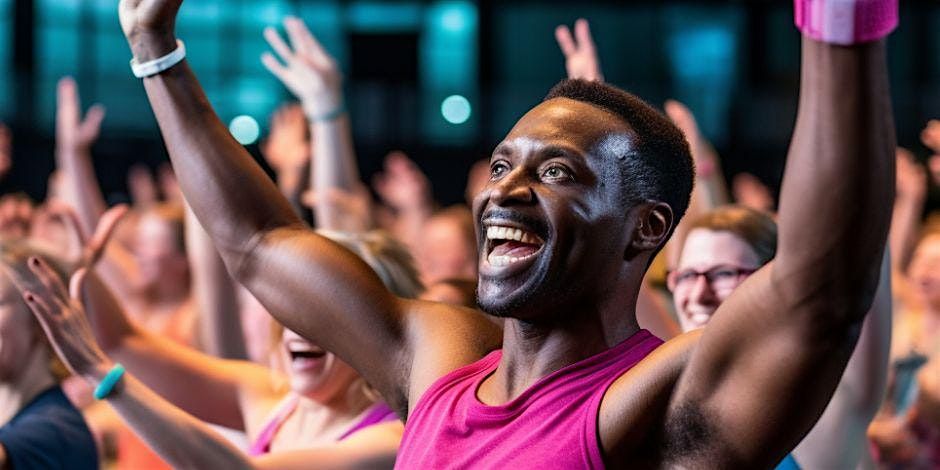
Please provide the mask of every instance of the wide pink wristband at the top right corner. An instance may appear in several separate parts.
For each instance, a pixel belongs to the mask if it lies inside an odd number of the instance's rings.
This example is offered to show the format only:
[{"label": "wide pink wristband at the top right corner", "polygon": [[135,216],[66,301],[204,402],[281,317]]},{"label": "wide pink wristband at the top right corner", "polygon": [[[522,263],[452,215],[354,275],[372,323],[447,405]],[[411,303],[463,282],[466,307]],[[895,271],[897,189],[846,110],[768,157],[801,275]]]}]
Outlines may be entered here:
[{"label": "wide pink wristband at the top right corner", "polygon": [[794,0],[803,35],[831,44],[881,39],[898,25],[898,0]]}]

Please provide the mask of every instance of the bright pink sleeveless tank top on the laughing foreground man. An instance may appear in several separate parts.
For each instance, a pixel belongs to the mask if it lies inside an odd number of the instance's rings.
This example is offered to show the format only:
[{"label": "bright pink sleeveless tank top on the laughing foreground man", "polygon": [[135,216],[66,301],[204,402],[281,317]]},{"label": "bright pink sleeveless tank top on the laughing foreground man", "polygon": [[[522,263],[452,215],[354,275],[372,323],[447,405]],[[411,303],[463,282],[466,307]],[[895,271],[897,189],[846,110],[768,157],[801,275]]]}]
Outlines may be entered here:
[{"label": "bright pink sleeveless tank top on the laughing foreground man", "polygon": [[503,405],[476,396],[502,351],[438,379],[408,418],[395,468],[604,468],[597,414],[607,388],[656,349],[646,330],[543,377]]}]

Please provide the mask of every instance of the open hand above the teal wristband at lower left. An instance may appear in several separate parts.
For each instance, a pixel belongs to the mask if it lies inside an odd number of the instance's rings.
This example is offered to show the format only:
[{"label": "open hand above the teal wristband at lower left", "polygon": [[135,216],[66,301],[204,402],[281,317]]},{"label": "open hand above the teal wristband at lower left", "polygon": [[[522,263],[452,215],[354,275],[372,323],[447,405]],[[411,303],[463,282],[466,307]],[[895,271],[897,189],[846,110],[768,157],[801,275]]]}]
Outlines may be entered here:
[{"label": "open hand above the teal wristband at lower left", "polygon": [[82,308],[82,284],[88,271],[76,271],[66,290],[46,261],[31,257],[28,264],[29,274],[8,271],[49,343],[72,373],[100,379],[110,368],[111,361],[95,340]]}]

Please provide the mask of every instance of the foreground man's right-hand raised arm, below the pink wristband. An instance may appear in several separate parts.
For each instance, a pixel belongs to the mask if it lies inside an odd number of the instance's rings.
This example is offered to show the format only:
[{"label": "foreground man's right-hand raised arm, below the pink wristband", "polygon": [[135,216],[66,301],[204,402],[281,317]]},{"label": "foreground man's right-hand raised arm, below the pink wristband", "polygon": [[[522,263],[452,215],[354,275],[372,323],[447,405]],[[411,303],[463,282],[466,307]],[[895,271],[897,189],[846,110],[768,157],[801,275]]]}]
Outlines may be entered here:
[{"label": "foreground man's right-hand raised arm, below the pink wristband", "polygon": [[705,328],[670,403],[660,459],[773,466],[832,396],[872,303],[891,217],[885,62],[883,39],[803,39],[776,260]]}]

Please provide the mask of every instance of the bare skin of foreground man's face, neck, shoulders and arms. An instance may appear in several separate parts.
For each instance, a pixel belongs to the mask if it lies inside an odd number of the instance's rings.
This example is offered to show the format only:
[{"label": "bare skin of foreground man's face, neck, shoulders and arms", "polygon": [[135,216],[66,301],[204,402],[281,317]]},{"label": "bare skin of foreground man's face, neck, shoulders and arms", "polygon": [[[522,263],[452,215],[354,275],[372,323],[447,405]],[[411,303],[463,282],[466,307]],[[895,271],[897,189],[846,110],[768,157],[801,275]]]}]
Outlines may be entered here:
[{"label": "bare skin of foreground man's face, neck, shoulders and arms", "polygon": [[[180,3],[122,1],[139,61],[174,49]],[[803,60],[778,261],[718,309],[675,386],[660,366],[667,343],[607,392],[599,436],[611,465],[773,465],[835,389],[878,280],[894,134],[883,41],[804,40]],[[479,313],[397,299],[351,253],[308,230],[212,112],[186,62],[144,86],[182,190],[229,271],[403,415],[435,379],[498,347],[498,329]],[[617,161],[602,145],[609,136],[632,137],[631,129],[607,111],[554,99],[520,119],[494,153],[474,204],[478,233],[499,220],[544,246],[504,269],[481,252],[481,303],[511,314],[502,362],[479,392],[486,403],[637,330],[629,312],[643,272],[676,221],[663,203],[618,204]],[[781,398],[768,403],[771,395]]]}]

